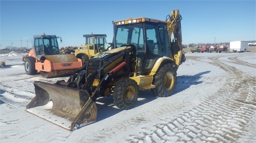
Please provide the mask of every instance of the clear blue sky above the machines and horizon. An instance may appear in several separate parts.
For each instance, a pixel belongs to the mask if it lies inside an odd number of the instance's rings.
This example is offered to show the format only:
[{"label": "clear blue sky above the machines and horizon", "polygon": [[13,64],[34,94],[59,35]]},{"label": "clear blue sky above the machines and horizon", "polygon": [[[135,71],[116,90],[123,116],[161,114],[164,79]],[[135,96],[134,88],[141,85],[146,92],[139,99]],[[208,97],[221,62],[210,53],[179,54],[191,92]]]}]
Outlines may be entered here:
[{"label": "clear blue sky above the machines and horizon", "polygon": [[[83,34],[107,34],[112,21],[129,17],[165,20],[179,9],[183,44],[256,40],[256,1],[250,0],[0,0],[0,44],[32,47],[33,35],[62,37],[60,47],[85,44]],[[20,44],[20,39],[21,44]]]}]

